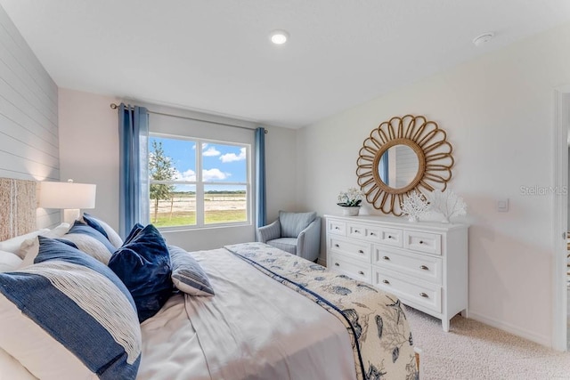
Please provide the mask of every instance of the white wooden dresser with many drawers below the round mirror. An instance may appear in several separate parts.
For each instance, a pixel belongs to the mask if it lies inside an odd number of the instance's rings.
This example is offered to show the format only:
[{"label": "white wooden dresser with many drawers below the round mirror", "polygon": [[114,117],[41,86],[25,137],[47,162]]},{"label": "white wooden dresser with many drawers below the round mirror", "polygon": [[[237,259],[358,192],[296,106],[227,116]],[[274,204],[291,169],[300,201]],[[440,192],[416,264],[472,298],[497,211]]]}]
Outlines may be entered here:
[{"label": "white wooden dresser with many drawers below the round mirror", "polygon": [[324,215],[327,267],[442,319],[468,311],[468,225]]}]

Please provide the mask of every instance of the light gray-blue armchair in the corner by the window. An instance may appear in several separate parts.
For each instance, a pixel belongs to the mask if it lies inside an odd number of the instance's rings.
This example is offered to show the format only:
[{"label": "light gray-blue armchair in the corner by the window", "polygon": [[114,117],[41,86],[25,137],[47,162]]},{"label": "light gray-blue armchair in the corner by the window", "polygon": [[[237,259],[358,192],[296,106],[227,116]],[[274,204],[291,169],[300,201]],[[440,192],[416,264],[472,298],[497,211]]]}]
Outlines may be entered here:
[{"label": "light gray-blue armchair in the corner by the window", "polygon": [[279,219],[257,229],[257,241],[314,262],[321,248],[321,217],[280,211]]}]

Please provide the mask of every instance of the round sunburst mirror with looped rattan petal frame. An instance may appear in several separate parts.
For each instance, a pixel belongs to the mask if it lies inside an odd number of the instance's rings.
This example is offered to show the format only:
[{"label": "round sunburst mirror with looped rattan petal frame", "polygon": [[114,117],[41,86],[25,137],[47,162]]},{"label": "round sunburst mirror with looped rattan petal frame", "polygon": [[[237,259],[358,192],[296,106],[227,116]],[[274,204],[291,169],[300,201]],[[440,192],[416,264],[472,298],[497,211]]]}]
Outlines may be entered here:
[{"label": "round sunburst mirror with looped rattan petal frame", "polygon": [[384,214],[402,214],[412,192],[445,190],[452,178],[452,144],[445,131],[423,116],[392,117],[372,130],[357,160],[366,200]]}]

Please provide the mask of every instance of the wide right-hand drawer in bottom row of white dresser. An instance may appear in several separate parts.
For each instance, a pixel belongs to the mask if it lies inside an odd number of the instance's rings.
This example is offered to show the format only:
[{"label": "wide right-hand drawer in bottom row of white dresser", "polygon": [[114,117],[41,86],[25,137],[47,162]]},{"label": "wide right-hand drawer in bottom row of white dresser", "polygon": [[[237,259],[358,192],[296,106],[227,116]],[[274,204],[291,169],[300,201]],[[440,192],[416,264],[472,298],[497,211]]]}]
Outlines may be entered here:
[{"label": "wide right-hand drawer in bottom row of white dresser", "polygon": [[442,287],[438,285],[376,267],[372,269],[372,285],[393,293],[411,306],[415,303],[431,311],[442,311]]}]

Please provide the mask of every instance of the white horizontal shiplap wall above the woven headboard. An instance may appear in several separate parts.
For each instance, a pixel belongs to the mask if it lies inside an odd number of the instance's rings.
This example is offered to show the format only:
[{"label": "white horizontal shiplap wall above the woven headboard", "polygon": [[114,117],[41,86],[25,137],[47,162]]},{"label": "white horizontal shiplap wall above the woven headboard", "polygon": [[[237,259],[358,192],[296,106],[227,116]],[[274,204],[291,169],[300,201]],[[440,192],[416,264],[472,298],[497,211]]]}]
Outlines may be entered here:
[{"label": "white horizontal shiplap wall above the woven headboard", "polygon": [[[0,6],[0,177],[59,181],[58,88]],[[60,221],[37,210],[37,227]]]}]

